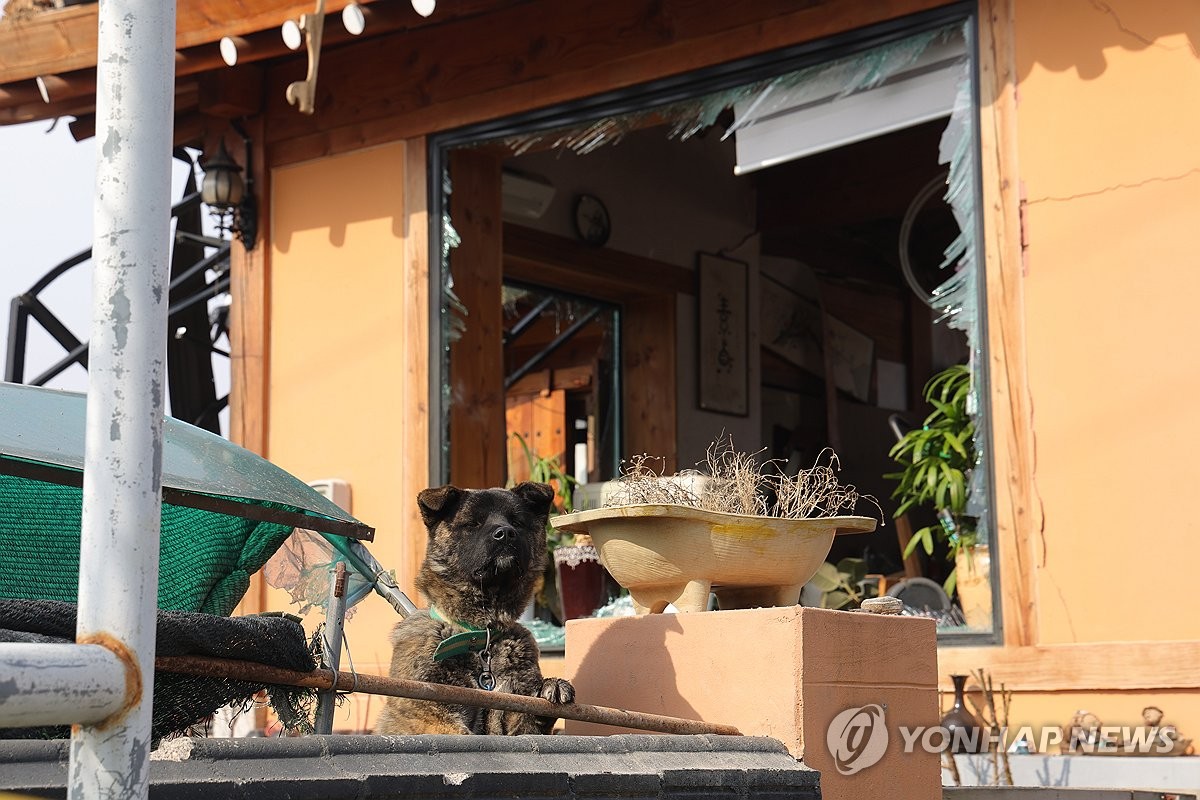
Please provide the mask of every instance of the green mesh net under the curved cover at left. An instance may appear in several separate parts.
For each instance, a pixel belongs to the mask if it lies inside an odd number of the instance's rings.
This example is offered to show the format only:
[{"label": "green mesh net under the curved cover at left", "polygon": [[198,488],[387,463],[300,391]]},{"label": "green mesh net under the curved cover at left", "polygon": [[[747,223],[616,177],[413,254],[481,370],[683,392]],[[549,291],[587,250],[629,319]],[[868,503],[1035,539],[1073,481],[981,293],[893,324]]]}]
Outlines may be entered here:
[{"label": "green mesh net under the curved cover at left", "polygon": [[[79,488],[0,475],[0,599],[74,602],[82,509]],[[290,533],[281,523],[164,503],[158,607],[228,615]]]}]

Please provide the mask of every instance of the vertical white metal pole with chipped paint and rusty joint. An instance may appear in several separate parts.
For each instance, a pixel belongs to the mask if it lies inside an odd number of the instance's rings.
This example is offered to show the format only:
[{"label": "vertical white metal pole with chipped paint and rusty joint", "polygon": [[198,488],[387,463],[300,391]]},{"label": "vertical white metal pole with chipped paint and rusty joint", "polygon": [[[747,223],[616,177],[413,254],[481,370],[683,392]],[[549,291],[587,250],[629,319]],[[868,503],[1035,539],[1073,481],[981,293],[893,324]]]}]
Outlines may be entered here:
[{"label": "vertical white metal pole with chipped paint and rusty joint", "polygon": [[103,0],[77,640],[125,663],[125,706],[71,736],[68,796],[149,795],[175,98],[175,1]]}]

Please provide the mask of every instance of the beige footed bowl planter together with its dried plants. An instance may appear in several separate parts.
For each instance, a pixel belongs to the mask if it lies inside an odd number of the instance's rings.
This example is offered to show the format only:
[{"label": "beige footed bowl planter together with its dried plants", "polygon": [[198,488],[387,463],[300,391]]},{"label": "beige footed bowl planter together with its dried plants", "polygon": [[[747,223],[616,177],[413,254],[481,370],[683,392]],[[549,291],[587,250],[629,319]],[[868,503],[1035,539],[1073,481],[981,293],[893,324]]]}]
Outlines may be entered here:
[{"label": "beige footed bowl planter together with its dried plants", "polygon": [[607,507],[553,524],[595,539],[638,613],[668,604],[702,612],[713,594],[722,609],[793,606],[834,536],[875,530],[878,517],[853,513],[859,499],[872,499],[838,481],[832,451],[822,455],[828,463],[796,477],[779,462],[760,463],[760,455],[739,452],[722,435],[700,470],[662,475],[664,459],[635,457],[605,497]]}]

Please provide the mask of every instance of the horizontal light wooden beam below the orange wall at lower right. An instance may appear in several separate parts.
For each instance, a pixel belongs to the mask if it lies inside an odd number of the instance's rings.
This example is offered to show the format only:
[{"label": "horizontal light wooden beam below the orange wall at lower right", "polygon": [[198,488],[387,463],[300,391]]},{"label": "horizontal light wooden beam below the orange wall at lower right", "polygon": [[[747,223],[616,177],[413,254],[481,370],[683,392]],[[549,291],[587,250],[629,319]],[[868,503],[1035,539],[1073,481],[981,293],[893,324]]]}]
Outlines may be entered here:
[{"label": "horizontal light wooden beam below the orange wall at lower right", "polygon": [[943,690],[980,667],[1018,692],[1195,690],[1198,663],[1200,640],[937,648]]}]

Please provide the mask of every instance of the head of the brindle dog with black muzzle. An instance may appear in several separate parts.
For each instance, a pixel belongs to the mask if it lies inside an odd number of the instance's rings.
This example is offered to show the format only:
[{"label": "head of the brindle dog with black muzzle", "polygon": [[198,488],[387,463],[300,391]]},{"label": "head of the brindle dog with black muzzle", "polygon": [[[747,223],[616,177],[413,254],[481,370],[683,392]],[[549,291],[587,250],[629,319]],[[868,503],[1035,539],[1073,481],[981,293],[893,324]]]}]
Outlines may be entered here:
[{"label": "head of the brindle dog with black muzzle", "polygon": [[548,486],[530,482],[512,489],[425,489],[416,504],[430,536],[416,588],[458,619],[515,619],[546,564],[553,499]]}]

